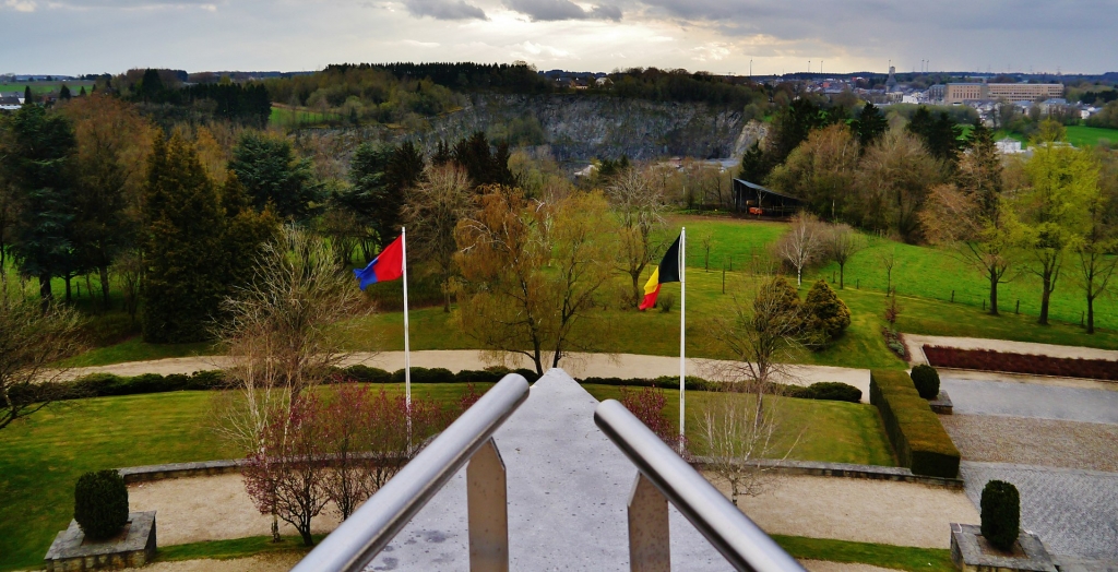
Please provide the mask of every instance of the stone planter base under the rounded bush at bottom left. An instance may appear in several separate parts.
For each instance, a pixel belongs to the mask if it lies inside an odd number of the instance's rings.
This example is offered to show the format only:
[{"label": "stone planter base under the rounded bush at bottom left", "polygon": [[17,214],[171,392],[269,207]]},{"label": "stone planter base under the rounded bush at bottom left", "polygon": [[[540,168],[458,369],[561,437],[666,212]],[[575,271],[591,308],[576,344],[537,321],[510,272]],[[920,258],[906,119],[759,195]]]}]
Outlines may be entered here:
[{"label": "stone planter base under the rounded bush at bottom left", "polygon": [[142,566],[155,557],[155,512],[129,513],[129,524],[116,538],[86,542],[77,521],[58,533],[45,557],[47,572]]}]

